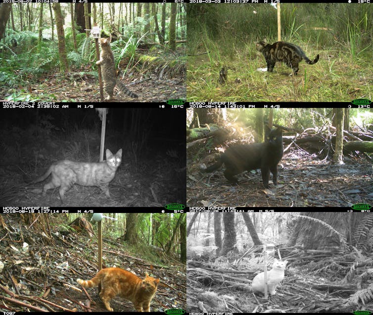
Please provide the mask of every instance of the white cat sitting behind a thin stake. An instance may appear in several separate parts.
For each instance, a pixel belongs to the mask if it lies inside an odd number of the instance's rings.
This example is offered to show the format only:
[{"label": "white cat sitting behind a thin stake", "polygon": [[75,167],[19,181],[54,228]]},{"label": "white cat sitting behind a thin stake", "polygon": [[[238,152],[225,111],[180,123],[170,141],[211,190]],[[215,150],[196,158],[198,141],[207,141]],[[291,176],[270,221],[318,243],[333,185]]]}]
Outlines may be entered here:
[{"label": "white cat sitting behind a thin stake", "polygon": [[[281,262],[275,259],[272,269],[267,272],[268,291],[271,295],[276,294],[276,287],[285,276],[284,270],[286,263],[287,261]],[[254,277],[251,287],[253,292],[264,293],[264,272],[261,272]]]}]

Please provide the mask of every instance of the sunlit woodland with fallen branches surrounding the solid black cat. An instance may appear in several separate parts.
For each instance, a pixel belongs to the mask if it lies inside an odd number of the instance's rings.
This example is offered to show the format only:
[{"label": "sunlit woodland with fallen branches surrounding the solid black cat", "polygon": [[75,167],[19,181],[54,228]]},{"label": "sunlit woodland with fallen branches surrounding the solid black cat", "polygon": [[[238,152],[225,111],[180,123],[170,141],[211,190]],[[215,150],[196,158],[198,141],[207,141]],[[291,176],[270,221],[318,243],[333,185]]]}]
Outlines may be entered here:
[{"label": "sunlit woodland with fallen branches surrounding the solid black cat", "polygon": [[[372,204],[372,109],[187,109],[187,205],[350,207]],[[237,175],[213,164],[227,148],[264,141],[264,125],[282,129],[278,185],[263,189],[260,171]],[[270,177],[272,180],[272,175]]]}]

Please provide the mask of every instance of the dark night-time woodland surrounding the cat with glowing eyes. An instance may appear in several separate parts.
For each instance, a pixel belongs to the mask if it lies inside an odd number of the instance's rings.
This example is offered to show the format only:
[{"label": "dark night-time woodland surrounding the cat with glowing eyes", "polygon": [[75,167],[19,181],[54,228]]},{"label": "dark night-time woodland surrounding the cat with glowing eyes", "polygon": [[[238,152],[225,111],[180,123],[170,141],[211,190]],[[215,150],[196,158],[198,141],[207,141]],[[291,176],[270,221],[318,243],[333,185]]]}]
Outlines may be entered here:
[{"label": "dark night-time woodland surrounding the cat with glowing eyes", "polygon": [[[45,196],[50,181],[27,184],[59,160],[99,162],[101,116],[94,109],[3,110],[1,121],[0,205],[61,206],[58,188]],[[164,207],[186,203],[184,126],[181,110],[110,108],[104,150],[123,150],[109,184],[108,198],[95,186],[74,185],[67,207]],[[103,156],[103,159],[106,159]]]}]

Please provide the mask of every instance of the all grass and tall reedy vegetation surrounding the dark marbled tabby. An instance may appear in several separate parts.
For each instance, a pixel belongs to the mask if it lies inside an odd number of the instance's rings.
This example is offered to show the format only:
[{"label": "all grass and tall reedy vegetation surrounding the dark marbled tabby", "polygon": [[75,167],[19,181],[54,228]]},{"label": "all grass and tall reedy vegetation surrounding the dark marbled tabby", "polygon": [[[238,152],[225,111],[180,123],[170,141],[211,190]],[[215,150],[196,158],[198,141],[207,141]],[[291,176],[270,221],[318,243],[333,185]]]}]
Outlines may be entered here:
[{"label": "all grass and tall reedy vegetation surrounding the dark marbled tabby", "polygon": [[[187,99],[246,102],[346,102],[373,96],[373,6],[348,3],[281,4],[281,41],[298,45],[314,65],[298,76],[255,49],[278,41],[277,10],[270,4],[188,6]],[[219,72],[228,69],[227,84]],[[260,69],[262,68],[262,69]]]}]

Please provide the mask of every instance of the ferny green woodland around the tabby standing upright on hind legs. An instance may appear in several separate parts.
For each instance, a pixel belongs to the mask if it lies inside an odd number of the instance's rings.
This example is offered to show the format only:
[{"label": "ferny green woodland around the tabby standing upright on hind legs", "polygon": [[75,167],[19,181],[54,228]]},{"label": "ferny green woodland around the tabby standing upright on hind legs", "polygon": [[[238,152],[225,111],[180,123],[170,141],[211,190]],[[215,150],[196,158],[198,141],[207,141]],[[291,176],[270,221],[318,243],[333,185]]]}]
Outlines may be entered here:
[{"label": "ferny green woodland around the tabby standing upright on hind legs", "polygon": [[1,3],[0,16],[2,101],[99,102],[93,26],[138,102],[186,98],[183,4]]}]

